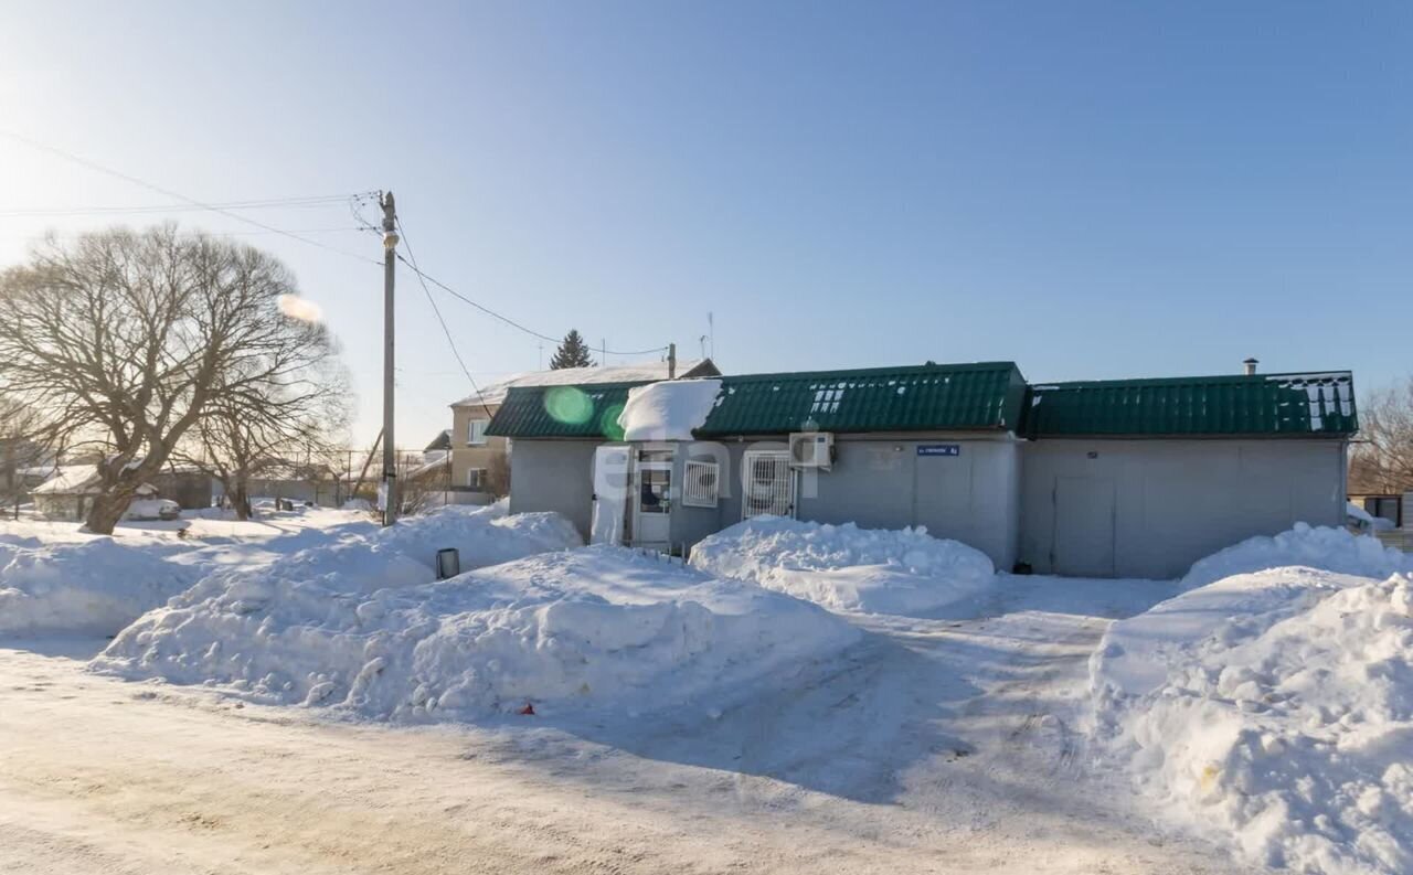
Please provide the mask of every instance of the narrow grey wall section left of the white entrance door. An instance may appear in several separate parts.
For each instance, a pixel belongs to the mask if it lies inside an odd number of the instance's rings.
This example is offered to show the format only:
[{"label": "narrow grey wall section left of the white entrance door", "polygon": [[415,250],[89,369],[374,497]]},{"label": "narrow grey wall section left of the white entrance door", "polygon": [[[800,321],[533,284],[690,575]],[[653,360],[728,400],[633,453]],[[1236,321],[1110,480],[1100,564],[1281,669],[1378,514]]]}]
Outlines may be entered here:
[{"label": "narrow grey wall section left of the white entrance door", "polygon": [[585,541],[593,521],[598,440],[516,440],[510,450],[510,512],[554,511]]}]

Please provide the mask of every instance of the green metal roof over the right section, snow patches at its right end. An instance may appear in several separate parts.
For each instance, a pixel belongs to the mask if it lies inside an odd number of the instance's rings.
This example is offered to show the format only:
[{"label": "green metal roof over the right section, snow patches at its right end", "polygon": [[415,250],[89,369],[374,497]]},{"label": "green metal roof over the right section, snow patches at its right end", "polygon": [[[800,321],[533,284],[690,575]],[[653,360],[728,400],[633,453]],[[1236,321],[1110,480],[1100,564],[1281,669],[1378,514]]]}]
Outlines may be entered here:
[{"label": "green metal roof over the right section, snow patches at its right end", "polygon": [[1027,438],[1338,438],[1359,429],[1349,371],[1037,384],[1024,408]]}]

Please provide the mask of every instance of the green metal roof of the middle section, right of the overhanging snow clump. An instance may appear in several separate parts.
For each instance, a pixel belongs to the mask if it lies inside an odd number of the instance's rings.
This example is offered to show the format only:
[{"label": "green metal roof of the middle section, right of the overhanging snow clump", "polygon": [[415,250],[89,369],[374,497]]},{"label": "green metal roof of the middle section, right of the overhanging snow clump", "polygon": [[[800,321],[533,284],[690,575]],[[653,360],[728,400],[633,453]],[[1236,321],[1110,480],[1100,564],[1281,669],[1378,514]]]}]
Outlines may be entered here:
[{"label": "green metal roof of the middle section, right of the overhanging snow clump", "polygon": [[1024,387],[1010,361],[722,377],[695,433],[1015,429]]}]

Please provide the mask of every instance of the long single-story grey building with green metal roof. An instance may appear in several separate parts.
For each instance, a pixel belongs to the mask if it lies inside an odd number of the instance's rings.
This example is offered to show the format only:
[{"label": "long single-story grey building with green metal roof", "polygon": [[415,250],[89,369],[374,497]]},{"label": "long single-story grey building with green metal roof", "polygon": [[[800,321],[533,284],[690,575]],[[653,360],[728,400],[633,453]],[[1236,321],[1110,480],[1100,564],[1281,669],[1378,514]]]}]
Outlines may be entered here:
[{"label": "long single-story grey building with green metal roof", "polygon": [[[1342,525],[1358,428],[1348,371],[1031,385],[1010,361],[928,363],[664,385],[510,388],[486,428],[513,442],[510,509],[673,552],[757,514],[924,525],[999,569],[1174,577],[1297,521]],[[639,401],[694,418],[644,432],[623,415]]]}]

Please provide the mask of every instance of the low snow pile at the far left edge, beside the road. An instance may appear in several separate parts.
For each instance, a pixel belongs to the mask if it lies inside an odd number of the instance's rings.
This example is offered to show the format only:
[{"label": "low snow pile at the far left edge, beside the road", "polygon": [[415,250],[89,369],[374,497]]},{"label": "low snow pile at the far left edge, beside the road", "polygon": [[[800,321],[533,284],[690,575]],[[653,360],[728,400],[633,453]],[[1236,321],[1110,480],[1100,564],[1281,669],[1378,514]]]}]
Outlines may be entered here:
[{"label": "low snow pile at the far left edge, beside the road", "polygon": [[0,545],[0,635],[112,635],[198,576],[110,538]]}]

